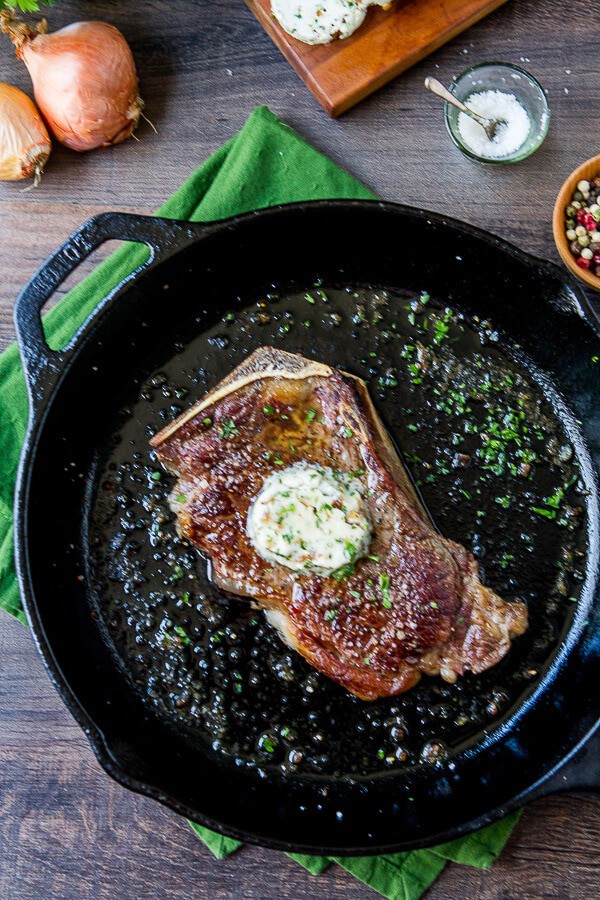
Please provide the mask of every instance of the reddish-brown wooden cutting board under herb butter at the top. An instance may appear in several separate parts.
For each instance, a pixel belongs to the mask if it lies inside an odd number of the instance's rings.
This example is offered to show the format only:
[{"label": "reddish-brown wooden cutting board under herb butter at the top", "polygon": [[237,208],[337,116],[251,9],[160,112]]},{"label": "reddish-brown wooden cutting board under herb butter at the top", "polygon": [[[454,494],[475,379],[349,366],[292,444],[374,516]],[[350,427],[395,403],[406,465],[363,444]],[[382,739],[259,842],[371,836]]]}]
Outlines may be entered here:
[{"label": "reddish-brown wooden cutting board under herb butter at the top", "polygon": [[270,0],[245,2],[321,106],[339,116],[506,0],[394,0],[388,10],[371,7],[351,37],[320,46],[287,34]]}]

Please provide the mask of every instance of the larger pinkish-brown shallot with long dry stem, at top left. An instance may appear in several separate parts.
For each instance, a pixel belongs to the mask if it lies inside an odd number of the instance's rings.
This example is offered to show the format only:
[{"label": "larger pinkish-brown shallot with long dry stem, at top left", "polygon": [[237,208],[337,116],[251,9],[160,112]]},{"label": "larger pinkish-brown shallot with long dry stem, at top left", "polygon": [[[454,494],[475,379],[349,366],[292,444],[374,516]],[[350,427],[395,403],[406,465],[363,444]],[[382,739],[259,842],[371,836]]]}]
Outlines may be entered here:
[{"label": "larger pinkish-brown shallot with long dry stem, at top left", "polygon": [[31,75],[36,102],[52,134],[72,150],[108,147],[128,138],[143,103],[129,45],[107,22],[75,22],[51,34],[8,12],[0,27],[9,34]]}]

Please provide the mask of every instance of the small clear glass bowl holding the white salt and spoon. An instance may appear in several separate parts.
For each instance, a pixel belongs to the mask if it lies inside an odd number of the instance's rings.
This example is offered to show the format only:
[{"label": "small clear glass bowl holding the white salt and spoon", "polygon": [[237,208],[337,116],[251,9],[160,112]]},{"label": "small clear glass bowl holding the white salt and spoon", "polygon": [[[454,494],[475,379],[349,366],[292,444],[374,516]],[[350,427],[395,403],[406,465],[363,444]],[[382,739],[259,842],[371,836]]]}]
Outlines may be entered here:
[{"label": "small clear glass bowl holding the white salt and spoon", "polygon": [[543,87],[533,75],[520,66],[501,62],[487,62],[471,66],[457,75],[450,85],[450,92],[463,103],[472,94],[479,94],[482,91],[503,91],[506,94],[513,94],[525,107],[531,120],[531,127],[524,143],[509,156],[479,156],[466,146],[461,137],[458,129],[459,110],[455,106],[445,103],[446,128],[450,137],[465,156],[477,160],[477,162],[506,165],[527,159],[543,143],[550,125],[550,107]]}]

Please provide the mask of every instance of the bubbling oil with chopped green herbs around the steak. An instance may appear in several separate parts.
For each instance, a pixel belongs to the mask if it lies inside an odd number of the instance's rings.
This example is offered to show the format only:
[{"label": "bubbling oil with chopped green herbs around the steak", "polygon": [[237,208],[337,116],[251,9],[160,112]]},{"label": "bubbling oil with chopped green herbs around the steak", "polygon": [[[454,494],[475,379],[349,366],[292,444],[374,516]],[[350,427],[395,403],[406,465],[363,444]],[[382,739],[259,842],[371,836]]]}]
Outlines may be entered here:
[{"label": "bubbling oil with chopped green herbs around the steak", "polygon": [[[177,537],[173,479],[149,438],[264,344],[368,383],[441,532],[529,606],[508,657],[455,685],[424,677],[365,703],[223,596]],[[238,764],[367,773],[452,754],[493,726],[552,658],[585,561],[579,467],[553,407],[490,323],[424,295],[315,286],[232,309],[142,385],[115,425],[91,516],[97,614],[145,702]]]}]

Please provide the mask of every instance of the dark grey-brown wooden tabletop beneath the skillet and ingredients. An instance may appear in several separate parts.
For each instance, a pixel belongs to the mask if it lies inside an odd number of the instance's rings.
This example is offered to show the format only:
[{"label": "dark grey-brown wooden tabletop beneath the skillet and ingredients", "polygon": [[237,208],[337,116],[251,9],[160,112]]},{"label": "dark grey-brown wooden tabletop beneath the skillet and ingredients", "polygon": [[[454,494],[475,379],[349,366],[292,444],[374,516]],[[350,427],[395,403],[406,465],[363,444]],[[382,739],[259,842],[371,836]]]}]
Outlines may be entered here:
[{"label": "dark grey-brown wooden tabletop beneath the skillet and ingredients", "polygon": [[[91,155],[56,147],[38,190],[0,186],[0,346],[13,337],[19,288],[75,226],[106,209],[154,209],[260,103],[383,197],[450,213],[549,258],[555,194],[599,150],[599,19],[589,0],[514,0],[335,122],[242,0],[64,0],[49,12],[56,27],[86,18],[112,21],[130,40],[158,135],[144,126],[139,142]],[[0,79],[28,90],[24,67],[0,46]],[[489,58],[523,63],[549,93],[548,139],[516,167],[463,159],[422,89],[426,73],[448,82]],[[27,630],[6,616],[0,671],[0,897],[374,896],[340,869],[315,879],[265,850],[215,861],[185,822],[103,773]],[[429,896],[598,896],[599,847],[599,798],[540,801],[492,870],[449,866]]]}]

